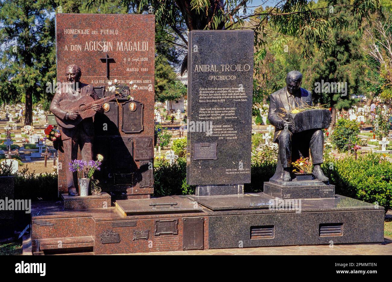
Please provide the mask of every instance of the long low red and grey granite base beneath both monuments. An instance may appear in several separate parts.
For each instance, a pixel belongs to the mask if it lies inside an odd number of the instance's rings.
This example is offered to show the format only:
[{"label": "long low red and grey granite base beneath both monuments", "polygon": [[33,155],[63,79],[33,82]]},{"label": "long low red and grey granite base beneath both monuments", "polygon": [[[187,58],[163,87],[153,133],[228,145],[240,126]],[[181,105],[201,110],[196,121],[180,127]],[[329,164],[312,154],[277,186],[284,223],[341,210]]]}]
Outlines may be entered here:
[{"label": "long low red and grey granite base beneath both monuments", "polygon": [[[32,253],[118,254],[384,240],[383,207],[339,195],[169,196],[132,203],[80,210],[33,203]],[[184,210],[163,206],[151,212],[157,203],[177,203]],[[143,208],[148,212],[135,213]]]}]

